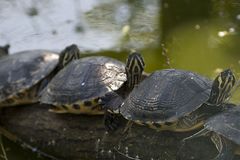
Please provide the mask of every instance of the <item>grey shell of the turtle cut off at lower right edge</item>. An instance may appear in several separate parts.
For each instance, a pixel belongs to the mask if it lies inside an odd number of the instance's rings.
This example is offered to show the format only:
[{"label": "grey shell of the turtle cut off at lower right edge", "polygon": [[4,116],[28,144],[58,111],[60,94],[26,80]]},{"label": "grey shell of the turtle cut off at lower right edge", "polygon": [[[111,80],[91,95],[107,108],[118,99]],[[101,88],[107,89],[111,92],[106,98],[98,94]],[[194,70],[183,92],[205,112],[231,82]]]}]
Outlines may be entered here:
[{"label": "grey shell of the turtle cut off at lower right edge", "polygon": [[234,107],[226,112],[210,118],[204,127],[210,131],[240,145],[240,107]]}]

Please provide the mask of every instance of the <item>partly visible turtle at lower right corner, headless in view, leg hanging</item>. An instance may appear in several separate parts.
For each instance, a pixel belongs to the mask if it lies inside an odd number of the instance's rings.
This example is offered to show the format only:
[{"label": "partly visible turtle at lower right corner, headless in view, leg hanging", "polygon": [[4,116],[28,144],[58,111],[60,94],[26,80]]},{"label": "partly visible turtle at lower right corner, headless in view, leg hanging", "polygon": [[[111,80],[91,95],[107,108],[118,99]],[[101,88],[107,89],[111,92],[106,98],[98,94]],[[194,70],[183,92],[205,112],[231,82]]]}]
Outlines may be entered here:
[{"label": "partly visible turtle at lower right corner, headless in view, leg hanging", "polygon": [[219,154],[214,160],[231,160],[234,154],[240,155],[240,106],[229,108],[209,118],[204,124],[204,128],[194,135],[183,140],[193,139],[200,136],[210,137],[215,144]]}]

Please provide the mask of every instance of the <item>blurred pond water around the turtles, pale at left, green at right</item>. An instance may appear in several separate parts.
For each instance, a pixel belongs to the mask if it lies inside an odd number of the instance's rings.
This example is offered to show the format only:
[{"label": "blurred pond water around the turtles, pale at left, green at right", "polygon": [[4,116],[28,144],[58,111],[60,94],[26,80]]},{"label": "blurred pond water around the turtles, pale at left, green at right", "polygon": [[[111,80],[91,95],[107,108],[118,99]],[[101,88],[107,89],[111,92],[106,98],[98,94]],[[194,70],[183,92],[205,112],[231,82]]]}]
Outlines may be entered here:
[{"label": "blurred pond water around the turtles, pale at left, green at right", "polygon": [[[75,43],[83,53],[125,61],[136,49],[147,72],[178,68],[211,79],[231,68],[239,80],[239,25],[239,0],[0,1],[0,45],[10,44],[11,54]],[[239,90],[231,98],[237,104]],[[10,160],[38,157],[4,145]]]}]

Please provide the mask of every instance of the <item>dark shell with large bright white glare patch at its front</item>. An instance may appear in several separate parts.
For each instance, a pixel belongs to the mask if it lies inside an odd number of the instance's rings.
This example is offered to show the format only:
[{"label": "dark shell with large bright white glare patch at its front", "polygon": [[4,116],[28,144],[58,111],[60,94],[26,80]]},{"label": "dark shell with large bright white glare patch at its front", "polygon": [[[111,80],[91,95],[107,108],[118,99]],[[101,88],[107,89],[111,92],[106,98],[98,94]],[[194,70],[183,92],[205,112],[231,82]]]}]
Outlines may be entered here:
[{"label": "dark shell with large bright white glare patch at its front", "polygon": [[64,105],[91,101],[119,89],[125,81],[124,63],[103,56],[82,58],[71,62],[52,79],[41,102]]}]

